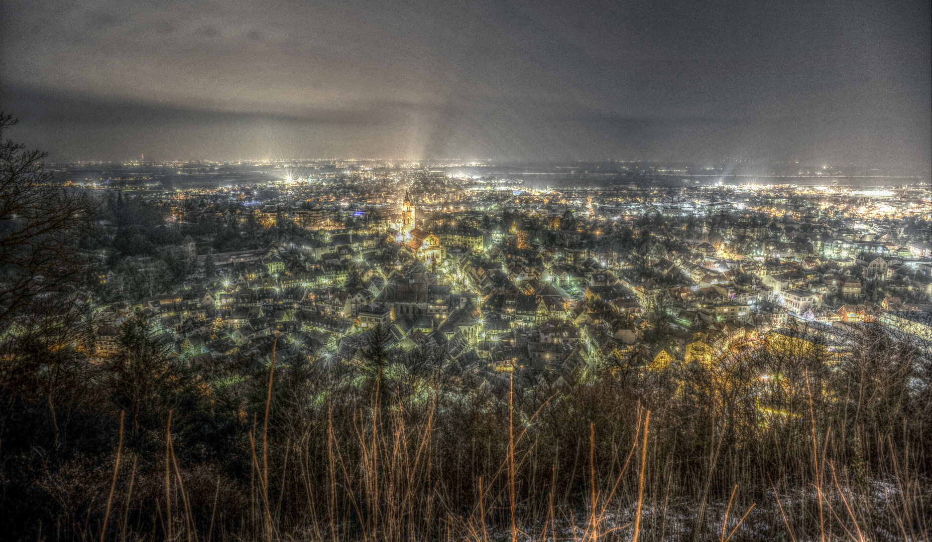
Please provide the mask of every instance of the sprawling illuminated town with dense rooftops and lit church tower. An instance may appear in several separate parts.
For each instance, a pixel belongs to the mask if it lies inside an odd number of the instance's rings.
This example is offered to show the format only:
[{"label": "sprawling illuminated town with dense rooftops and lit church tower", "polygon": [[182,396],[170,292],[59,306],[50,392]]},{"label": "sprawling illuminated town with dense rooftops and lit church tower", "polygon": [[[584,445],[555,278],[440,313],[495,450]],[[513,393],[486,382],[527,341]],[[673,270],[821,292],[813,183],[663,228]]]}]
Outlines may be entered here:
[{"label": "sprawling illuminated town with dense rooftops and lit church tower", "polygon": [[282,362],[359,364],[380,328],[390,348],[440,349],[458,372],[529,386],[789,337],[842,351],[857,322],[932,331],[922,183],[864,189],[819,170],[824,184],[725,184],[655,168],[640,171],[649,182],[551,187],[419,164],[270,170],[262,184],[171,189],[70,171],[70,185],[103,191],[110,236],[96,251],[95,357],[116,351],[131,316],[195,367],[267,365],[276,338]]}]

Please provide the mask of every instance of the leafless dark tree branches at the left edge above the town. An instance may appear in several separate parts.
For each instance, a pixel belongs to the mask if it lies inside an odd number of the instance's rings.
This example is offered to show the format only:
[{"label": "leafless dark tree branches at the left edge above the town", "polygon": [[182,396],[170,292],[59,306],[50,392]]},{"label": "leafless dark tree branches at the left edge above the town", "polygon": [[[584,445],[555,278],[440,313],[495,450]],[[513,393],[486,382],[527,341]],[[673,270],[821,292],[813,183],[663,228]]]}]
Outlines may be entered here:
[{"label": "leafless dark tree branches at the left edge above the town", "polygon": [[0,322],[34,302],[53,303],[87,278],[76,242],[92,232],[94,205],[51,183],[48,156],[3,140],[17,123],[0,114]]}]

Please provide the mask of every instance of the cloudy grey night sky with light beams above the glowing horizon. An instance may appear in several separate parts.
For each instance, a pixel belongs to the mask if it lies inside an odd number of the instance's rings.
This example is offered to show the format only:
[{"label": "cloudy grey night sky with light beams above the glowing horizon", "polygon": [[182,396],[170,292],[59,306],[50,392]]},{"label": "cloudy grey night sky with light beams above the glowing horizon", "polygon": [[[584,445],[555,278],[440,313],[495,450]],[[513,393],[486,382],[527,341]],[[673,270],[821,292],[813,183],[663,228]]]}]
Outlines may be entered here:
[{"label": "cloudy grey night sky with light beams above the glowing horizon", "polygon": [[52,160],[932,160],[928,0],[0,2]]}]

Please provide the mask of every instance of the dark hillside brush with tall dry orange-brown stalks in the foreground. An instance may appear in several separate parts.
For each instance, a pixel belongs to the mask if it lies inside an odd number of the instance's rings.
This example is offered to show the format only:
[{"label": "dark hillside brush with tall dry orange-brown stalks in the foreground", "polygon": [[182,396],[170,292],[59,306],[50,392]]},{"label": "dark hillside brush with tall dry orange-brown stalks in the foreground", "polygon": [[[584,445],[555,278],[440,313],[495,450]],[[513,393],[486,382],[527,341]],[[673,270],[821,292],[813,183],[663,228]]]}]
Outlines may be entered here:
[{"label": "dark hillside brush with tall dry orange-brown stalks in the foreground", "polygon": [[929,539],[928,350],[850,339],[537,379],[377,344],[359,366],[195,371],[131,322],[99,365],[18,346],[3,537]]}]

